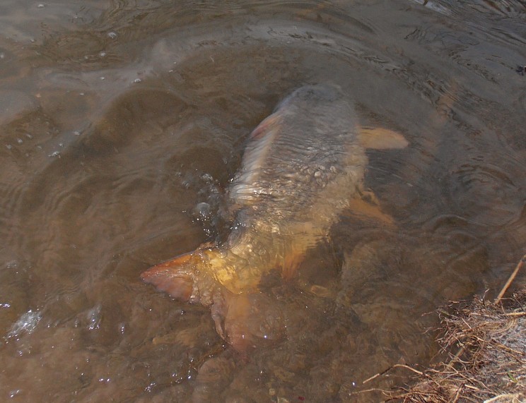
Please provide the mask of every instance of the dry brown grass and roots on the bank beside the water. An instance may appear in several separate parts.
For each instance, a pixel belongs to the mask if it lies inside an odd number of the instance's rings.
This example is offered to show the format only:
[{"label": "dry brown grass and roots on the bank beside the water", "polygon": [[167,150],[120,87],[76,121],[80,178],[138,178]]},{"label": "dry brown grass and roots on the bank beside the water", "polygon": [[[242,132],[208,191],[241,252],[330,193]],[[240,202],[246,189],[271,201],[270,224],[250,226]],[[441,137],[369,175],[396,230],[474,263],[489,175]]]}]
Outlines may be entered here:
[{"label": "dry brown grass and roots on the bank beside the water", "polygon": [[478,298],[440,313],[438,342],[448,360],[419,374],[409,389],[389,393],[387,401],[526,402],[526,289],[502,299],[525,261],[526,255],[493,303]]}]

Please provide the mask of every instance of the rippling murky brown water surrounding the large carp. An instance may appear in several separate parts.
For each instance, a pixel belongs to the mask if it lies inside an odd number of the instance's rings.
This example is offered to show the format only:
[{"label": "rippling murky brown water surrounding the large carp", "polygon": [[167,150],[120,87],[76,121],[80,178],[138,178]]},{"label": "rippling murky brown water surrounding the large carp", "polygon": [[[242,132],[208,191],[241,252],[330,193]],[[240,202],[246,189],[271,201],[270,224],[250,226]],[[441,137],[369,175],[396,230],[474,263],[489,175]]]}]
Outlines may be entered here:
[{"label": "rippling murky brown water surrounding the large carp", "polygon": [[[172,3],[0,6],[0,399],[378,401],[357,392],[407,371],[363,380],[436,353],[423,313],[498,291],[525,252],[525,6]],[[139,274],[228,231],[248,133],[323,82],[409,140],[368,152],[397,224],[344,212],[267,284],[286,340],[242,356]]]}]

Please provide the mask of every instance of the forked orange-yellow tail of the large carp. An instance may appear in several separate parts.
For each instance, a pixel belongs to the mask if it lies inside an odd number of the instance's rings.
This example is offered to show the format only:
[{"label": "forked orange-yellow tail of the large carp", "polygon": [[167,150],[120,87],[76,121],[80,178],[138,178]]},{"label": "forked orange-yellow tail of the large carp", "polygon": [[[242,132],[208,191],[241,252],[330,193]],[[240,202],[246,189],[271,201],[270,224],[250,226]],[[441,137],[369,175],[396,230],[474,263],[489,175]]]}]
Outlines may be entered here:
[{"label": "forked orange-yellow tail of the large carp", "polygon": [[240,260],[233,256],[202,245],[150,267],[141,278],[174,299],[210,306],[218,335],[237,351],[279,341],[284,335],[279,304],[257,291],[259,276],[238,277],[233,267]]}]

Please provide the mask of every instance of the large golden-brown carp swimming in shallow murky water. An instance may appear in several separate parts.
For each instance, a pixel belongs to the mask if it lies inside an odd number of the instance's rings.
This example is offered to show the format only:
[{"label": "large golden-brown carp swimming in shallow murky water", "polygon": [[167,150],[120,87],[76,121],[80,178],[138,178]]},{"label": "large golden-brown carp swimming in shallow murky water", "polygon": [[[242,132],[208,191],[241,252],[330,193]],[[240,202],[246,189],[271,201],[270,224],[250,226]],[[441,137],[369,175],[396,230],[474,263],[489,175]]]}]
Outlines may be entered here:
[{"label": "large golden-brown carp swimming in shallow murky water", "polygon": [[273,270],[293,278],[344,210],[391,224],[363,188],[366,150],[407,145],[396,131],[360,126],[337,85],[303,85],[247,139],[228,187],[235,218],[226,241],[204,243],[141,278],[173,299],[210,307],[218,335],[235,349],[279,338],[281,311],[260,291],[262,278]]}]

